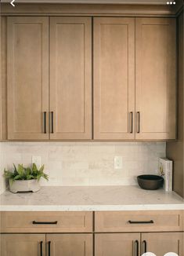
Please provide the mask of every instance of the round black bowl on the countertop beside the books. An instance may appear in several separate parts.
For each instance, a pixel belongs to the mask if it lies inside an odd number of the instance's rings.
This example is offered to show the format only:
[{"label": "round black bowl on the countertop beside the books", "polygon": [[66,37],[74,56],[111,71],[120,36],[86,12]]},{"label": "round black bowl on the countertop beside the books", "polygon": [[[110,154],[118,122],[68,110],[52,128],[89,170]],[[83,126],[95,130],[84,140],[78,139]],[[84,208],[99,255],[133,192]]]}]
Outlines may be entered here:
[{"label": "round black bowl on the countertop beside the books", "polygon": [[147,190],[155,190],[161,188],[164,184],[164,178],[157,175],[139,175],[137,177],[138,184],[141,188]]}]

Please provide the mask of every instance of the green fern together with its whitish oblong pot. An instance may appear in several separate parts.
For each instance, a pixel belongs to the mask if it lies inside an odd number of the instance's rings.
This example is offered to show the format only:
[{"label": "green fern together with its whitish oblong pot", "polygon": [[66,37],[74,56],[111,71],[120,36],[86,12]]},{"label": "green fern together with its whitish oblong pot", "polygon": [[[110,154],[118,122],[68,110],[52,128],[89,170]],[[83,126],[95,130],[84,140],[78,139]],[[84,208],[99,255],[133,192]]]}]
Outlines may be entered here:
[{"label": "green fern together with its whitish oblong pot", "polygon": [[41,177],[49,180],[48,175],[43,172],[44,165],[40,169],[35,163],[31,167],[23,167],[23,164],[17,167],[13,164],[13,166],[14,170],[4,170],[4,177],[9,181],[9,190],[13,193],[37,192],[40,189]]}]

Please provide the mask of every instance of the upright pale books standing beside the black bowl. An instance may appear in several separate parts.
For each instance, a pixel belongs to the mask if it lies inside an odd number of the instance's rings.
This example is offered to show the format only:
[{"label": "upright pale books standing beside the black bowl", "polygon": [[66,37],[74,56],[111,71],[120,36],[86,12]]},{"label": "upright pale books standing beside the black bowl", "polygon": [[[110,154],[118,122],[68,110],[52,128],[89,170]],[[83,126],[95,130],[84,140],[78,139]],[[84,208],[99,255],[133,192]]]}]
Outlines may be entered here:
[{"label": "upright pale books standing beside the black bowl", "polygon": [[159,174],[164,177],[164,190],[172,191],[172,161],[166,158],[159,159]]}]

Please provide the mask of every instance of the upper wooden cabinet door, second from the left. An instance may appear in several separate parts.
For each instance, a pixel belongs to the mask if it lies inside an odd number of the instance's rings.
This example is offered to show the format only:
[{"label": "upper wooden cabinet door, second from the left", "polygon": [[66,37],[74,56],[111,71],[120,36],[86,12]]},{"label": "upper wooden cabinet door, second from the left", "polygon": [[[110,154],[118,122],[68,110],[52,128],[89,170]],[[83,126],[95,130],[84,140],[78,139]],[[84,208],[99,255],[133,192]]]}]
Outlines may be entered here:
[{"label": "upper wooden cabinet door, second from the left", "polygon": [[50,26],[50,138],[91,139],[91,18],[51,17]]}]

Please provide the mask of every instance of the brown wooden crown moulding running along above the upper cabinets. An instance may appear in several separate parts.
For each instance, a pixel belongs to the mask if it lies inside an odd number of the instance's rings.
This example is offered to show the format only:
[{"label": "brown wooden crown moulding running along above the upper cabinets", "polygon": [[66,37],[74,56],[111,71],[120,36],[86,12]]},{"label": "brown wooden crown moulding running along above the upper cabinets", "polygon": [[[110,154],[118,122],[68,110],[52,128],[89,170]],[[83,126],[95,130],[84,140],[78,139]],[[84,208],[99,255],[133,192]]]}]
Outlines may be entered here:
[{"label": "brown wooden crown moulding running along above the upper cabinets", "polygon": [[[182,0],[180,0],[182,1]],[[178,3],[178,1],[176,2]],[[115,4],[21,4],[13,9],[11,5],[2,4],[2,15],[77,15],[77,16],[175,16],[177,5],[115,5]]]}]

